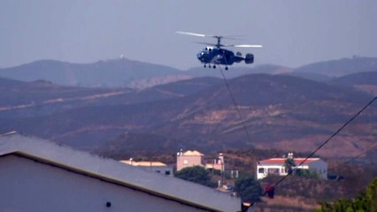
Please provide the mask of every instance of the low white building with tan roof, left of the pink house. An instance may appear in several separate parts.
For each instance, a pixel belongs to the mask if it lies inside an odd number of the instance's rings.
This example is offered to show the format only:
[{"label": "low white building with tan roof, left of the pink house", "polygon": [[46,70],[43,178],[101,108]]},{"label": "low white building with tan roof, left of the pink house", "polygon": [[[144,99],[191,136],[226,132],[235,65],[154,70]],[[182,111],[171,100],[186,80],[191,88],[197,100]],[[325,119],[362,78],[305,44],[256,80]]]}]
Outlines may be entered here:
[{"label": "low white building with tan roof, left of the pink house", "polygon": [[173,167],[168,166],[165,163],[146,162],[146,161],[135,162],[134,160],[132,160],[132,158],[130,160],[122,160],[120,162],[140,167],[143,170],[150,170],[150,171],[154,171],[154,172],[157,172],[157,173],[160,173],[160,174],[163,174],[163,175],[173,177]]}]

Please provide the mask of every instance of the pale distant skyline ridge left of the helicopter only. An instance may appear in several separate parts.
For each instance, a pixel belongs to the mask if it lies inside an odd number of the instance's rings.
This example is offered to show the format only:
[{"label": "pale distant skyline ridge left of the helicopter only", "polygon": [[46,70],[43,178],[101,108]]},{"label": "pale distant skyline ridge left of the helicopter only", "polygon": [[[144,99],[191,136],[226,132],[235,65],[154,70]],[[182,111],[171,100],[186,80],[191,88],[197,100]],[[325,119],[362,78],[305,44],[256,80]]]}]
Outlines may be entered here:
[{"label": "pale distant skyline ridge left of the helicopter only", "polygon": [[23,81],[44,79],[62,86],[81,87],[150,87],[178,79],[188,79],[181,71],[171,67],[126,58],[98,61],[93,64],[40,60],[0,69],[0,77]]}]

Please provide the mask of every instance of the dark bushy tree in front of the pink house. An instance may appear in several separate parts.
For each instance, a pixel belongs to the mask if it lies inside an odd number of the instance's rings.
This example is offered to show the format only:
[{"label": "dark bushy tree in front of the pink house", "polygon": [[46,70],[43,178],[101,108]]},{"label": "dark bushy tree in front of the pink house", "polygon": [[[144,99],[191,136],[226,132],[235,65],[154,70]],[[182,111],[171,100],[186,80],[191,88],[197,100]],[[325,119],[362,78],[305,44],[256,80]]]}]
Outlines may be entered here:
[{"label": "dark bushy tree in front of the pink house", "polygon": [[176,178],[188,180],[197,184],[209,187],[216,187],[217,183],[211,179],[209,170],[205,170],[202,166],[194,166],[179,170],[174,175]]}]

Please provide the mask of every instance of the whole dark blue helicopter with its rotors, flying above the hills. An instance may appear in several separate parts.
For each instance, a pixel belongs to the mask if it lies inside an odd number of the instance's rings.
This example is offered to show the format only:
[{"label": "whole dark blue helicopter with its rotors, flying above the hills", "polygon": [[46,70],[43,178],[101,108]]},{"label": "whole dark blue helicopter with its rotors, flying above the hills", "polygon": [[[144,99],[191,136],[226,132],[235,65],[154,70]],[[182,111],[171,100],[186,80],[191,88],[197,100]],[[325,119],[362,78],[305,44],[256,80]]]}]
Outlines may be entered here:
[{"label": "whole dark blue helicopter with its rotors, flying above the hills", "polygon": [[[198,42],[205,45],[202,51],[200,51],[196,57],[197,59],[204,64],[204,68],[216,68],[216,64],[223,64],[225,65],[225,70],[227,70],[228,65],[232,65],[234,63],[240,63],[245,61],[245,64],[252,64],[254,63],[254,55],[253,54],[246,54],[245,57],[242,57],[242,53],[237,51],[236,53],[228,50],[223,49],[222,47],[240,47],[240,48],[262,48],[262,45],[249,45],[249,44],[239,44],[239,45],[229,45],[229,44],[222,44],[221,39],[235,39],[234,37],[229,36],[220,36],[220,35],[209,35],[209,34],[196,34],[196,33],[189,33],[189,32],[182,32],[177,31],[177,34],[186,34],[191,36],[197,37],[212,37],[217,39],[217,43],[208,43],[208,42]],[[212,65],[213,64],[213,65]]]}]

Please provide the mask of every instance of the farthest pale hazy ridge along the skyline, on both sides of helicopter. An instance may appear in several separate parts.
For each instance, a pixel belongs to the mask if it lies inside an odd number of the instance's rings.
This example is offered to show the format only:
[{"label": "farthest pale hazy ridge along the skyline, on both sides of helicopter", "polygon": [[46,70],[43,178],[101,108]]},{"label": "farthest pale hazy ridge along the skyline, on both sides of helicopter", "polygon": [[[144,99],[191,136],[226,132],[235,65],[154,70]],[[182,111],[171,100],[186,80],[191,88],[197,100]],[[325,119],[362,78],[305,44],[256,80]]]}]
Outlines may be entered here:
[{"label": "farthest pale hazy ridge along the skyline, on both sides of helicopter", "polygon": [[[377,71],[377,58],[353,57],[308,64],[291,69],[274,64],[232,66],[228,78],[250,73],[290,74],[305,79],[328,81],[356,72]],[[30,64],[0,69],[0,77],[23,81],[47,80],[61,86],[146,88],[182,79],[212,76],[221,78],[218,69],[192,68],[181,71],[159,64],[149,64],[126,58],[98,61],[92,64],[72,64],[40,60]]]}]

